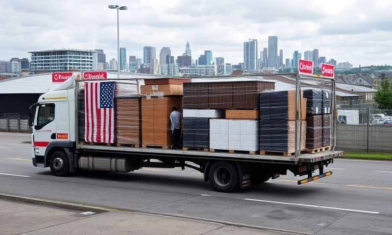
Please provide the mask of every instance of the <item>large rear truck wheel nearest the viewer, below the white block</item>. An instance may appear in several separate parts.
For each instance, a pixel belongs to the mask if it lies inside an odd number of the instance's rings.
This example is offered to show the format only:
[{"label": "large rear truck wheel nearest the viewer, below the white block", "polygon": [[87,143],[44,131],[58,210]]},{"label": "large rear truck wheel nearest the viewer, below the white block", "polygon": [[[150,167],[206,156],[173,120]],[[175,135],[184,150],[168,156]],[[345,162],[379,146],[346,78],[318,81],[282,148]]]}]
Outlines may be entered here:
[{"label": "large rear truck wheel nearest the viewer, below the white block", "polygon": [[238,170],[233,164],[219,161],[211,165],[208,179],[216,191],[232,192],[238,186]]}]

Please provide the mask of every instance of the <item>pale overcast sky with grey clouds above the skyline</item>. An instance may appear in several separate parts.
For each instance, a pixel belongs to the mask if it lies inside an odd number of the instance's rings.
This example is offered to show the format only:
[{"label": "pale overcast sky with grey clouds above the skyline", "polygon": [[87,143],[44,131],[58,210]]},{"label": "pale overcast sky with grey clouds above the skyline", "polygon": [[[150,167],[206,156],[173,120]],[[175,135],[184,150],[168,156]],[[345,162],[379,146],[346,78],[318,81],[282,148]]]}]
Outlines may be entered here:
[{"label": "pale overcast sky with grey clouds above the skyline", "polygon": [[30,57],[32,50],[120,46],[143,58],[143,47],[171,47],[181,55],[189,40],[193,59],[205,49],[226,63],[243,62],[243,42],[278,36],[284,59],[294,50],[319,48],[319,56],[355,67],[392,65],[392,0],[0,0],[0,60]]}]

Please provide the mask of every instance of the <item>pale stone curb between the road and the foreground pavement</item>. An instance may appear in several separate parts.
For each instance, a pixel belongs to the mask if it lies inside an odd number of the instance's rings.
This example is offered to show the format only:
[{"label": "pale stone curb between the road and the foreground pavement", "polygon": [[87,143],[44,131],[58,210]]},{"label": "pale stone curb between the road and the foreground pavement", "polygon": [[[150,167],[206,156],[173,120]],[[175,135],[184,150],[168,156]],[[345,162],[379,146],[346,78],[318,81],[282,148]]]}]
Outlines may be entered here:
[{"label": "pale stone curb between the road and the foreground pavement", "polygon": [[172,214],[165,214],[165,213],[155,213],[155,212],[145,212],[145,211],[119,209],[119,208],[100,207],[100,206],[73,203],[73,202],[62,202],[62,201],[42,199],[42,198],[19,196],[19,195],[7,194],[7,193],[0,193],[0,199],[14,200],[14,201],[31,203],[31,204],[38,204],[38,205],[47,205],[47,206],[76,210],[76,211],[93,211],[93,212],[97,212],[97,213],[132,212],[132,213],[141,213],[141,214],[146,214],[146,215],[172,217],[172,218],[176,218],[176,219],[196,220],[199,222],[219,223],[219,224],[222,224],[225,226],[257,229],[257,230],[263,230],[263,231],[268,231],[268,232],[278,232],[278,233],[294,234],[294,235],[313,235],[313,233],[306,233],[306,232],[299,232],[299,231],[294,231],[294,230],[286,230],[286,229],[264,227],[264,226],[257,226],[257,225],[249,225],[249,224],[242,224],[242,223],[234,223],[234,222],[229,222],[229,221],[224,221],[224,220],[205,219],[205,218],[192,217],[192,216],[172,215]]}]

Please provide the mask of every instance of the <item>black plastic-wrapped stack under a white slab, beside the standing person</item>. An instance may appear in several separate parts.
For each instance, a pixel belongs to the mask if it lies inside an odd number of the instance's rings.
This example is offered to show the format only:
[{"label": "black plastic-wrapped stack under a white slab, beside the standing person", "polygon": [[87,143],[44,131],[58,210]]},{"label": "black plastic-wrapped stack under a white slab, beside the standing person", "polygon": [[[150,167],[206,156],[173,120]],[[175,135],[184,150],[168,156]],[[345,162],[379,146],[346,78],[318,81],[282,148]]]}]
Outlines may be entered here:
[{"label": "black plastic-wrapped stack under a white slab, beside the standing person", "polygon": [[210,147],[209,120],[209,118],[183,119],[183,147],[203,149]]}]

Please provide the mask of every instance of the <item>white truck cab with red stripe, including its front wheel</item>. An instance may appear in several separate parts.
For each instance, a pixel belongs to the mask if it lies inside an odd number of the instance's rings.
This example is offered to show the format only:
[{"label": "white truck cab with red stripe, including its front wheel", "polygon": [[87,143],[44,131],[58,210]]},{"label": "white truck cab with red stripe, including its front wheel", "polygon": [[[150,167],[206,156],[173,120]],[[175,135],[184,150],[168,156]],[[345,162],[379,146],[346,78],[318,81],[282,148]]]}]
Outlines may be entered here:
[{"label": "white truck cab with red stripe, including its front wheel", "polygon": [[[75,147],[75,80],[69,78],[30,107],[29,125],[32,126],[32,161],[34,166],[48,167],[62,172],[73,171]],[[69,161],[63,158],[67,157]],[[68,167],[68,164],[70,164]],[[68,173],[68,172],[66,172]]]}]

